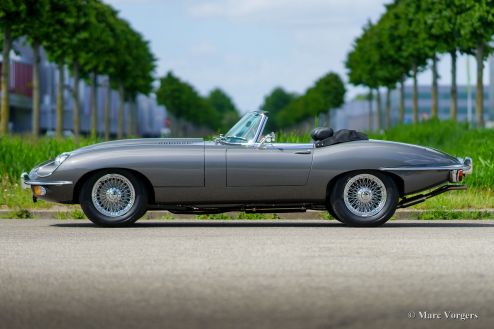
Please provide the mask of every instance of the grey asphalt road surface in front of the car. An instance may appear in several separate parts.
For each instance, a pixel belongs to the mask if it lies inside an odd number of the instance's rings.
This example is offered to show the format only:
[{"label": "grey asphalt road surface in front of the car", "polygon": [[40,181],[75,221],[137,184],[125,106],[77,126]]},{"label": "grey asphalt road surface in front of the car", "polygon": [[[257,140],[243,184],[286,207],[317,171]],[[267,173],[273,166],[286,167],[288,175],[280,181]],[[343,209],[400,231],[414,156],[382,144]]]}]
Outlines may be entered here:
[{"label": "grey asphalt road surface in front of the car", "polygon": [[494,221],[0,220],[0,328],[494,328],[493,255]]}]

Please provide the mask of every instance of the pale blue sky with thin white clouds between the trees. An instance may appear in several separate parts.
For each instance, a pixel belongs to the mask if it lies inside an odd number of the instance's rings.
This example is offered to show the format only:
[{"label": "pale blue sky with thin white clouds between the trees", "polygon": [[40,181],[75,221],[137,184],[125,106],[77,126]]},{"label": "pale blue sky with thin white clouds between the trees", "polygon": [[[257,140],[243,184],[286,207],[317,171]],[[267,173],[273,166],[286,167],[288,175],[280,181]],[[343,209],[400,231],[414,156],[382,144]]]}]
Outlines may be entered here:
[{"label": "pale blue sky with thin white clouds between the trees", "polygon": [[[344,60],[384,0],[106,0],[150,40],[157,76],[172,70],[201,94],[221,87],[241,111],[258,109],[274,87],[303,93],[329,71],[346,80]],[[441,60],[440,84],[450,83]],[[471,81],[475,61],[470,59]],[[466,59],[458,83],[467,81]],[[430,72],[419,77],[430,84]],[[487,75],[485,76],[488,82]],[[348,97],[360,90],[349,86]]]}]

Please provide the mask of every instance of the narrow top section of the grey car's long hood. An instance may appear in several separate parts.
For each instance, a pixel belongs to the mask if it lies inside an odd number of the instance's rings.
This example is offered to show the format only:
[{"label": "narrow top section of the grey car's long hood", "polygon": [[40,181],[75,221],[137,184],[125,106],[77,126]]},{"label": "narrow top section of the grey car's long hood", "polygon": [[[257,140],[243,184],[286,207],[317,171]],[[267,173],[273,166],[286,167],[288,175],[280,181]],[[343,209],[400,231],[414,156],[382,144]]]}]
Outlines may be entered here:
[{"label": "narrow top section of the grey car's long hood", "polygon": [[101,150],[111,150],[115,148],[133,148],[138,146],[166,146],[166,145],[204,145],[204,140],[202,138],[139,138],[139,139],[122,139],[111,142],[103,142],[94,145],[89,145],[85,147],[78,148],[72,152],[73,155],[101,151]]}]

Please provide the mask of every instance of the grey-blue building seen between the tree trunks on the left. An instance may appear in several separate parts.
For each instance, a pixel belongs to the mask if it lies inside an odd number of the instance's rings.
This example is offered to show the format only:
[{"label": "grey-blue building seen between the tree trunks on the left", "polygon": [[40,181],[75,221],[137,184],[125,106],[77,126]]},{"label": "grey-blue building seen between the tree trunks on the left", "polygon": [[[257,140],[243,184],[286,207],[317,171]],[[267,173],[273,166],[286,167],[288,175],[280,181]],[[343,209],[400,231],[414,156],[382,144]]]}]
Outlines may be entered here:
[{"label": "grey-blue building seen between the tree trunks on the left", "polygon": [[[22,39],[13,45],[14,50],[10,59],[10,118],[9,129],[14,133],[31,131],[32,124],[32,77],[33,53],[32,49]],[[3,59],[0,55],[0,62]],[[2,65],[0,63],[0,65]],[[1,66],[0,66],[1,67]],[[104,132],[103,107],[106,97],[108,78],[97,77],[97,131],[100,136]],[[56,91],[58,85],[58,68],[50,62],[46,53],[41,50],[40,63],[40,94],[41,113],[40,129],[42,133],[51,134],[55,130],[56,120]],[[65,85],[73,86],[73,80],[65,68]],[[80,95],[80,123],[81,133],[89,134],[91,127],[90,86],[84,81],[79,83]],[[70,88],[64,89],[63,129],[67,134],[73,131],[73,100]],[[113,90],[110,97],[110,131],[111,135],[117,132],[117,112],[119,97]],[[157,104],[154,95],[138,95],[135,102],[137,110],[137,134],[141,136],[159,136],[165,130],[166,109]],[[125,104],[124,127],[127,130],[130,104]]]}]

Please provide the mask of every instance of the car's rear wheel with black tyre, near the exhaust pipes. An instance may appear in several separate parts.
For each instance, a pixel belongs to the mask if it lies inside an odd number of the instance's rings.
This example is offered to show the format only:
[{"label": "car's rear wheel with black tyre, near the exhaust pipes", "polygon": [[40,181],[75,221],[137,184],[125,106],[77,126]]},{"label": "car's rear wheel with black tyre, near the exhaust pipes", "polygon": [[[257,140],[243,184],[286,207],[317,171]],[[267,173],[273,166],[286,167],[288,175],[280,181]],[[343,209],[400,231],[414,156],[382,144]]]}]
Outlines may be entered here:
[{"label": "car's rear wheel with black tyre, near the exhaust pipes", "polygon": [[[370,191],[368,186],[374,190]],[[349,226],[364,227],[386,223],[395,213],[398,199],[399,191],[394,180],[377,171],[351,172],[342,176],[335,182],[330,195],[336,218]],[[362,205],[359,202],[368,209],[359,208]]]}]

